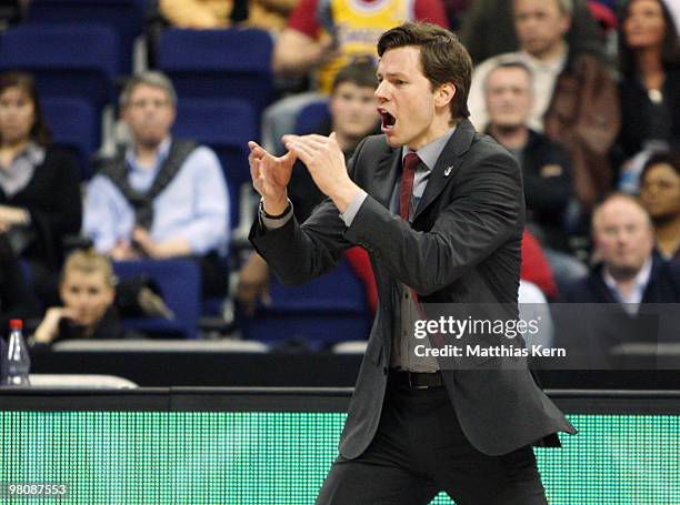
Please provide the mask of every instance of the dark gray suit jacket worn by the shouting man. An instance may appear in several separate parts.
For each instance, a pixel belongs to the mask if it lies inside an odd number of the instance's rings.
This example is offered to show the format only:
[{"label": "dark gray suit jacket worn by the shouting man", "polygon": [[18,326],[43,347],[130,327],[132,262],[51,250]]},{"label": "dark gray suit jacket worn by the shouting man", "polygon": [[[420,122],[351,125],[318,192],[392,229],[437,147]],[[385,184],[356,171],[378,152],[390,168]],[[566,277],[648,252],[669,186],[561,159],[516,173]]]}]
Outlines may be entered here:
[{"label": "dark gray suit jacket worn by the shouting man", "polygon": [[[430,175],[411,228],[389,211],[400,154],[383,135],[369,137],[357,148],[349,172],[369,196],[351,226],[326,200],[302,225],[291,220],[266,231],[256,222],[250,233],[276,275],[290,285],[331,270],[354,244],[370,253],[379,306],[340,442],[347,458],[368,447],[380,420],[397,281],[416,290],[423,303],[517,304],[524,196],[512,156],[469,121],[460,123]],[[527,368],[497,370],[489,361],[479,368],[442,371],[460,425],[479,451],[500,455],[559,431],[576,433]]]}]

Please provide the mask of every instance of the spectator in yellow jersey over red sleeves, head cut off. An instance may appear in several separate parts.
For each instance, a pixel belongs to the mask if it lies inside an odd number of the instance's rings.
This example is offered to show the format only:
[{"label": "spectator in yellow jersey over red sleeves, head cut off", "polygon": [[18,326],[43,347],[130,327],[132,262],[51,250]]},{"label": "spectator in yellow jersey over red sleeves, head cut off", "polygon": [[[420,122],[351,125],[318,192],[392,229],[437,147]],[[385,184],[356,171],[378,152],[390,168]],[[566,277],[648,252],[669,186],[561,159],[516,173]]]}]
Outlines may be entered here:
[{"label": "spectator in yellow jersey over red sleeves, head cut off", "polygon": [[279,77],[313,72],[313,84],[264,111],[263,147],[282,153],[281,135],[292,133],[306,104],[332,91],[336,73],[357,58],[377,59],[380,34],[413,20],[448,27],[441,0],[300,0],[277,40],[272,68]]}]

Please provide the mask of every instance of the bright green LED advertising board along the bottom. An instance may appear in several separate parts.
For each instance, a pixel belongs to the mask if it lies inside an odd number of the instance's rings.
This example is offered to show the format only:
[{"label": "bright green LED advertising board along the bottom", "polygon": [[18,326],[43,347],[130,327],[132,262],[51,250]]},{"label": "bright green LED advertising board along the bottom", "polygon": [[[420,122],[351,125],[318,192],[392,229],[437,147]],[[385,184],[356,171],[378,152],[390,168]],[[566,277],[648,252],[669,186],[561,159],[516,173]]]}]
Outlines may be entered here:
[{"label": "bright green LED advertising board along the bottom", "polygon": [[[570,415],[537,450],[552,505],[680,504],[680,416]],[[0,483],[69,486],[2,504],[312,504],[341,413],[1,412]],[[451,503],[439,496],[436,504]]]}]

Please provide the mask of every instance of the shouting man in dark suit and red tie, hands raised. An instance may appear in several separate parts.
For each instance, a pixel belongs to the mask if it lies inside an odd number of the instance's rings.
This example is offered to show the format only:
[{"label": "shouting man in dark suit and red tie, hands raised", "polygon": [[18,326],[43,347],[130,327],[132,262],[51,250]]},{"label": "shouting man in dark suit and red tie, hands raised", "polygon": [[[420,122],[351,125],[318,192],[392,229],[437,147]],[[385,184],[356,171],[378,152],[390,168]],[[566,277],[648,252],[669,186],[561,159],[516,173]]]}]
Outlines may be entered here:
[{"label": "shouting man in dark suit and red tie, hands raised", "polygon": [[[441,370],[413,352],[430,303],[517,309],[524,212],[512,158],[468,117],[471,61],[450,32],[406,23],[378,44],[382,135],[346,168],[334,135],[286,135],[286,155],[250,143],[262,195],[250,239],[279,279],[300,284],[364,248],[379,307],[319,504],[544,504],[530,444],[576,430],[527,368],[497,360]],[[328,195],[299,224],[286,186],[299,158]],[[397,214],[397,215],[396,215]],[[351,337],[353,335],[348,335]]]}]

